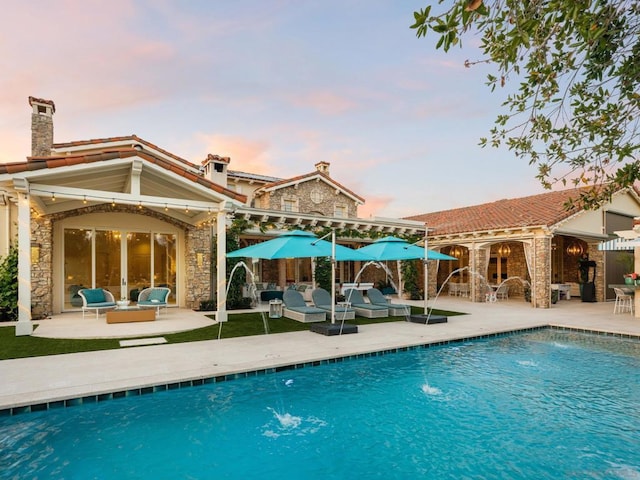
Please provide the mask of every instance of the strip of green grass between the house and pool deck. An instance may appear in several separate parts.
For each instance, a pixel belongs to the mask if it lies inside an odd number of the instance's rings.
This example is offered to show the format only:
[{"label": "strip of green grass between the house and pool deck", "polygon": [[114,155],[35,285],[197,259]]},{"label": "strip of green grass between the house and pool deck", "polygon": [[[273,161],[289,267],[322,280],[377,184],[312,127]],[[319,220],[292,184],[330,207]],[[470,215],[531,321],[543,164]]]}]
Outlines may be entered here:
[{"label": "strip of green grass between the house and pool deck", "polygon": [[[413,307],[412,313],[422,313],[422,309]],[[449,312],[434,309],[434,315],[464,315],[459,312]],[[266,314],[265,314],[266,315]],[[268,318],[269,333],[286,333],[309,330],[309,324],[300,323],[289,318]],[[364,318],[356,317],[348,320],[352,325],[366,325],[372,323],[404,322],[405,317]],[[219,325],[198,328],[181,333],[162,335],[168,343],[200,342],[203,340],[216,340],[220,332]],[[237,313],[229,315],[229,321],[222,325],[220,338],[247,337],[252,335],[264,335],[264,322],[260,313]],[[157,335],[154,335],[157,336]],[[144,337],[140,337],[144,338]],[[15,327],[0,327],[0,360],[12,358],[40,357],[45,355],[59,355],[64,353],[92,352],[98,350],[111,350],[120,347],[117,338],[108,339],[58,339],[40,338],[32,336],[16,337]]]}]

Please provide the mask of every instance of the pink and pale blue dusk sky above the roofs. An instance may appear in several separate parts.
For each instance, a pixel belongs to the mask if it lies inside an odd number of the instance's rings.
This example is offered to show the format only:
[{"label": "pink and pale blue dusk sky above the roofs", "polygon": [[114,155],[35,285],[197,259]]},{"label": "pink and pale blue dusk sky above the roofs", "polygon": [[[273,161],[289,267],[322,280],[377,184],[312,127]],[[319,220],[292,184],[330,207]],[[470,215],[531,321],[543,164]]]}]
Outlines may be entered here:
[{"label": "pink and pale blue dusk sky above the roofs", "polygon": [[31,149],[29,95],[54,141],[136,134],[199,164],[292,177],[331,163],[402,217],[541,193],[535,167],[480,148],[490,93],[469,39],[448,54],[409,28],[420,0],[0,0],[0,162]]}]

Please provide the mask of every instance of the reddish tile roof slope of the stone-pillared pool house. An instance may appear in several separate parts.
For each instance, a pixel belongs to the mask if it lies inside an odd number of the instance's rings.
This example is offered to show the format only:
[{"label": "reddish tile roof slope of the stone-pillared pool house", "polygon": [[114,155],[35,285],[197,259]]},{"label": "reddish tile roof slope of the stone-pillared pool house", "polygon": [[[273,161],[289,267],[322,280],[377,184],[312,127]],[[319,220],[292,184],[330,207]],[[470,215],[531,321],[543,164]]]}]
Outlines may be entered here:
[{"label": "reddish tile roof slope of the stone-pillared pool house", "polygon": [[565,208],[566,202],[577,199],[580,191],[581,189],[569,189],[547,192],[405,218],[425,222],[429,227],[435,228],[434,235],[551,226],[581,211],[577,206],[568,210]]}]

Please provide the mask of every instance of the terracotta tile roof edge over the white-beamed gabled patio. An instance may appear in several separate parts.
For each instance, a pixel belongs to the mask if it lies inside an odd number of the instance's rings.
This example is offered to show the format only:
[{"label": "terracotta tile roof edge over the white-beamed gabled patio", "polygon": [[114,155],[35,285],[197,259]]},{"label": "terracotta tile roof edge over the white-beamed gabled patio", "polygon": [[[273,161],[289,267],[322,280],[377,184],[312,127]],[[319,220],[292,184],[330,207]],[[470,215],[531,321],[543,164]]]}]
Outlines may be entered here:
[{"label": "terracotta tile roof edge over the white-beamed gabled patio", "polygon": [[147,151],[138,151],[135,148],[122,148],[105,150],[96,153],[88,153],[83,155],[63,155],[51,157],[27,157],[26,162],[15,162],[0,164],[0,175],[15,174],[21,172],[31,172],[36,170],[53,169],[58,167],[69,167],[85,163],[98,163],[107,160],[115,160],[119,158],[139,157],[143,160],[158,165],[175,175],[183,177],[193,183],[202,185],[205,188],[213,190],[217,193],[233,198],[242,203],[246,203],[247,197],[240,193],[229,190],[217,183],[207,180],[206,178],[193,173],[191,169],[184,168],[178,164],[169,162],[163,158],[150,154]]}]

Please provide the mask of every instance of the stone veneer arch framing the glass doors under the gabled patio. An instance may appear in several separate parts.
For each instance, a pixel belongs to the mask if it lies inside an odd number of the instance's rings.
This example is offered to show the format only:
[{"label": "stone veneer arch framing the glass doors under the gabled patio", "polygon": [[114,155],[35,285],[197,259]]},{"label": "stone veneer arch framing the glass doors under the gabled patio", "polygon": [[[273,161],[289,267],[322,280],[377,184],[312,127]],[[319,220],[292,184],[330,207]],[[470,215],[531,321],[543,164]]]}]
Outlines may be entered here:
[{"label": "stone veneer arch framing the glass doors under the gabled patio", "polygon": [[[77,217],[89,213],[117,212],[132,213],[157,218],[163,222],[177,226],[185,232],[185,262],[187,275],[186,306],[196,308],[200,300],[211,296],[211,229],[196,227],[181,222],[168,215],[146,208],[139,209],[134,205],[108,204],[83,207],[53,215],[31,217],[32,241],[40,244],[40,258],[31,266],[31,311],[32,318],[44,318],[53,312],[53,226],[55,222],[69,217]],[[198,266],[198,253],[202,254],[202,266]]]}]

